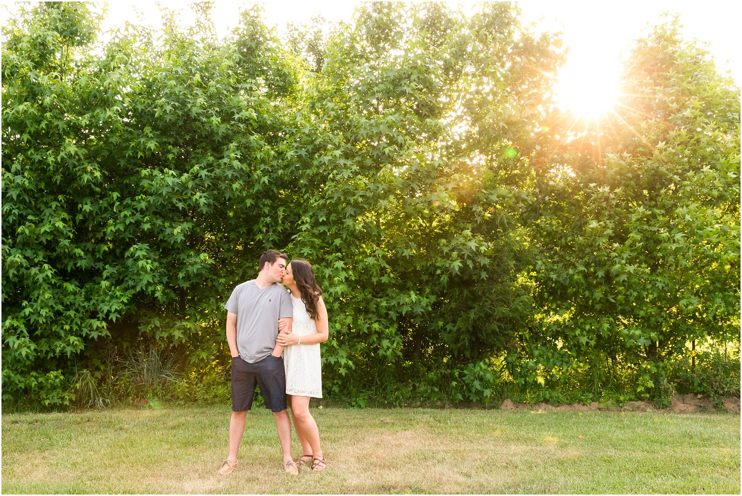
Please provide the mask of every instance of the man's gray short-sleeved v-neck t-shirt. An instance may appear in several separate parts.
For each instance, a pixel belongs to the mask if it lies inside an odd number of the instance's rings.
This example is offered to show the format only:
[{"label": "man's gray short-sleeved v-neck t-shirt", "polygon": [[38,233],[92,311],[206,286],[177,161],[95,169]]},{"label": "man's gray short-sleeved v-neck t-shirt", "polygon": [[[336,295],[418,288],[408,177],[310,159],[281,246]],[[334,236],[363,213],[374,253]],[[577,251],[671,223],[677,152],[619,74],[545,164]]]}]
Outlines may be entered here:
[{"label": "man's gray short-sleeved v-neck t-shirt", "polygon": [[278,337],[278,319],[293,317],[289,292],[280,284],[257,287],[255,279],[234,288],[224,308],[237,314],[237,350],[249,363],[269,356]]}]

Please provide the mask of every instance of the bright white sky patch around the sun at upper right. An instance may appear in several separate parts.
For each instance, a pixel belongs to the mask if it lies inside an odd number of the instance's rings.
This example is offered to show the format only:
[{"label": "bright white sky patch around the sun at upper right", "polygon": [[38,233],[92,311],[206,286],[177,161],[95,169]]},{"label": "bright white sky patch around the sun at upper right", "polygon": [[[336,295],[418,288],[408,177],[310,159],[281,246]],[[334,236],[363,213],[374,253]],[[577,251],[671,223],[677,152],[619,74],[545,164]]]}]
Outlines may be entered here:
[{"label": "bright white sky patch around the sun at upper right", "polygon": [[621,57],[648,25],[657,24],[668,11],[678,13],[683,34],[708,43],[718,66],[731,71],[740,83],[740,4],[715,0],[519,3],[524,19],[564,33],[570,50],[559,72],[557,99],[585,117],[600,115],[613,104]]}]

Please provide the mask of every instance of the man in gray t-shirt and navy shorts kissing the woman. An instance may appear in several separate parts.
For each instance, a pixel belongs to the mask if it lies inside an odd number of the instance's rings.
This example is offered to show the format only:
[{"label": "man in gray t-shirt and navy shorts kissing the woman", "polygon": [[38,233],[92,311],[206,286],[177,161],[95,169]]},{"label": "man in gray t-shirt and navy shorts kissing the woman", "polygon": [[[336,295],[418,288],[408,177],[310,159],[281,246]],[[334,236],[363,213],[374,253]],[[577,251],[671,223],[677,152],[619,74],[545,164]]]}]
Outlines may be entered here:
[{"label": "man in gray t-shirt and navy shorts kissing the woman", "polygon": [[278,322],[291,327],[292,302],[279,283],[286,273],[288,256],[269,249],[260,256],[257,278],[239,284],[224,308],[227,310],[226,336],[232,353],[232,419],[229,421],[229,457],[220,474],[237,467],[237,451],[245,432],[247,411],[252,408],[255,385],[275,417],[276,431],[283,451],[283,469],[298,474],[291,457],[291,422],[286,413],[286,373],[276,344]]}]

